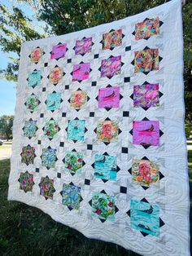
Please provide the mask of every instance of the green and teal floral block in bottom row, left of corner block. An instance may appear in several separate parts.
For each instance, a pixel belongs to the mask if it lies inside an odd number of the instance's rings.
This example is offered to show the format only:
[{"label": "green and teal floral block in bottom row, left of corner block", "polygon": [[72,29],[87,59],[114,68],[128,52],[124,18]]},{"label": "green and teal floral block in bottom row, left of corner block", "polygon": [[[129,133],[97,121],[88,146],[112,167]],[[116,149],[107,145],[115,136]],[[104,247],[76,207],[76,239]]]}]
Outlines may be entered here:
[{"label": "green and teal floral block in bottom row, left of corner block", "polygon": [[102,192],[94,192],[91,214],[101,220],[115,221],[115,197],[108,196],[106,193]]}]

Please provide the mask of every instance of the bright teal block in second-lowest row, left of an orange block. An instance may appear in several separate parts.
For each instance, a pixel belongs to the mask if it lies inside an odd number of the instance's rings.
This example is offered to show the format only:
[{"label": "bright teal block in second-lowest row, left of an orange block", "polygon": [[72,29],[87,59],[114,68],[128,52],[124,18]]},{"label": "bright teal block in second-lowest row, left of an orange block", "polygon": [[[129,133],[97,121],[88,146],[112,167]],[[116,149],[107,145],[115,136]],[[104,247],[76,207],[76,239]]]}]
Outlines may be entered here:
[{"label": "bright teal block in second-lowest row, left of an orange block", "polygon": [[94,177],[116,180],[116,157],[95,154]]}]

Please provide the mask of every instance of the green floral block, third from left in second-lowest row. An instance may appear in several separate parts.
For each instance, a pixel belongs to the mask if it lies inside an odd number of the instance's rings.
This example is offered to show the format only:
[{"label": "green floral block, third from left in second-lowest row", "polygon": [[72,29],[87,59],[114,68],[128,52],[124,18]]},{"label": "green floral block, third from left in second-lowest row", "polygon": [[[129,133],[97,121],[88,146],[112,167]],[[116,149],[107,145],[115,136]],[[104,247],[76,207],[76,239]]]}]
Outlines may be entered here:
[{"label": "green floral block, third from left in second-lowest row", "polygon": [[65,157],[63,159],[64,170],[72,175],[81,174],[83,167],[83,156],[84,155],[81,152],[66,152]]}]

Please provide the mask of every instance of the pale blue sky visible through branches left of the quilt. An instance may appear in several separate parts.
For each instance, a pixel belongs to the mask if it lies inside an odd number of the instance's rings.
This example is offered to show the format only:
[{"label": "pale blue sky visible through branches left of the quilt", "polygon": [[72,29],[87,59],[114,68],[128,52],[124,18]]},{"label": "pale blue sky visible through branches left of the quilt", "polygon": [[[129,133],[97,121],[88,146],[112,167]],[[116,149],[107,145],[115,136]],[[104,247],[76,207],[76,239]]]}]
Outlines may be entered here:
[{"label": "pale blue sky visible through branches left of the quilt", "polygon": [[[33,18],[33,10],[26,6],[24,3],[17,3],[15,0],[1,0],[1,4],[5,4],[8,8],[14,6],[20,7],[25,15]],[[33,19],[34,20],[34,19]],[[34,20],[34,25],[37,26],[38,21]],[[10,60],[7,58],[0,48],[0,69],[6,68]],[[13,115],[16,104],[16,83],[7,82],[0,79],[0,116]]]}]

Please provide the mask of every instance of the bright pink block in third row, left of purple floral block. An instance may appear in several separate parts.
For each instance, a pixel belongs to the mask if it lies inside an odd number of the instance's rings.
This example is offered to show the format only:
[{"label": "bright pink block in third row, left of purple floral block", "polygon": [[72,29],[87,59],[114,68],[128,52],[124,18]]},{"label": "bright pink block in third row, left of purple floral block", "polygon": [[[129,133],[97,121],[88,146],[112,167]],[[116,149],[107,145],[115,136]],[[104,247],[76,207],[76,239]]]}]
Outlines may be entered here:
[{"label": "bright pink block in third row, left of purple floral block", "polygon": [[113,86],[99,89],[98,108],[120,108],[120,87]]}]

